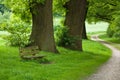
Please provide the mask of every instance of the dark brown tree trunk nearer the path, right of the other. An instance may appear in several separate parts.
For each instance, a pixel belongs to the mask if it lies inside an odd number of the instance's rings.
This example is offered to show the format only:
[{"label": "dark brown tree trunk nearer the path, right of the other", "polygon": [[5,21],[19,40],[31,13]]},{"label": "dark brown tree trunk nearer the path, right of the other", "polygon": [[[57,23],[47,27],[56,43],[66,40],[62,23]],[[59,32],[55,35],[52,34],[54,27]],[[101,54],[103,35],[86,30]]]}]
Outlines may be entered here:
[{"label": "dark brown tree trunk nearer the path, right of the other", "polygon": [[65,4],[67,9],[65,26],[69,28],[69,35],[78,37],[74,46],[69,46],[73,50],[82,51],[82,30],[86,12],[86,0],[70,0]]}]

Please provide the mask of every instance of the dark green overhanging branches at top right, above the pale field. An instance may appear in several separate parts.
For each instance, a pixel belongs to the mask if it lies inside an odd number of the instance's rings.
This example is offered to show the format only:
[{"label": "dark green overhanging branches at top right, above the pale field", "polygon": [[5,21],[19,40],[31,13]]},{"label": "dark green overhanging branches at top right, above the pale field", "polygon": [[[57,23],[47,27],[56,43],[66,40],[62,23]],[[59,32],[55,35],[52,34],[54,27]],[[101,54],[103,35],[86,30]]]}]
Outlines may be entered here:
[{"label": "dark green overhanging branches at top right, above the pale field", "polygon": [[120,15],[119,0],[88,0],[89,9],[87,20],[89,22],[106,21],[111,22],[115,15]]}]

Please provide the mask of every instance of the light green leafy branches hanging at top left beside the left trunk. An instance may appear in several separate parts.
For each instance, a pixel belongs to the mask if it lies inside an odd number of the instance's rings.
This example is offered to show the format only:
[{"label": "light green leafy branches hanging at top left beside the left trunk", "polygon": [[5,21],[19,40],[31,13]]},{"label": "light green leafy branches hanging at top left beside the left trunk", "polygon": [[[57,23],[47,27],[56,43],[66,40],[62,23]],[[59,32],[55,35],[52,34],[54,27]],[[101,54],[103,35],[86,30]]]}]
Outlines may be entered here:
[{"label": "light green leafy branches hanging at top left beside the left trunk", "polygon": [[26,22],[31,21],[31,11],[36,3],[44,4],[45,0],[4,0],[4,4],[11,9],[15,15]]}]

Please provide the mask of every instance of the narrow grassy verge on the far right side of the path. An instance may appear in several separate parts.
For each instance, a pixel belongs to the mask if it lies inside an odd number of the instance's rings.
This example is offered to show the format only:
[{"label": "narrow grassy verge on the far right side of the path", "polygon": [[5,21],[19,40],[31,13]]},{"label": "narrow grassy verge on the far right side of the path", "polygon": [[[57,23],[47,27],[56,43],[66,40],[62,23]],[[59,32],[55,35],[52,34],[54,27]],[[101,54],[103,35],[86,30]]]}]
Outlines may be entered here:
[{"label": "narrow grassy verge on the far right side of the path", "polygon": [[104,39],[111,43],[114,47],[120,50],[120,40],[116,38],[109,38],[106,34],[100,35],[101,39]]}]

